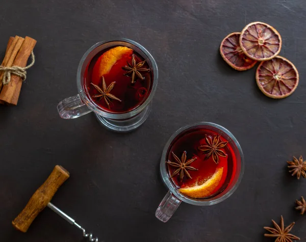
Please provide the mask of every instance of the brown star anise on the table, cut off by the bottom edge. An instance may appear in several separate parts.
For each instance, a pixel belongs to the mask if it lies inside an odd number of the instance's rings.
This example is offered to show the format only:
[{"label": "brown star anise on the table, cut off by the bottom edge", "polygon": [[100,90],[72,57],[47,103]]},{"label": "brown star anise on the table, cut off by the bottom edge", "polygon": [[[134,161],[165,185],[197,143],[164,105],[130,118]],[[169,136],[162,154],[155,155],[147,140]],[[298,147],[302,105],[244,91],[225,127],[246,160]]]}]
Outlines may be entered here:
[{"label": "brown star anise on the table, cut off by the bottom edge", "polygon": [[285,226],[283,216],[281,216],[281,226],[276,224],[274,220],[272,220],[272,222],[275,228],[264,227],[264,229],[270,232],[270,234],[265,234],[265,237],[274,237],[275,242],[292,242],[292,239],[300,240],[299,237],[289,233],[295,224],[294,222],[292,222],[286,228],[284,228]]}]

